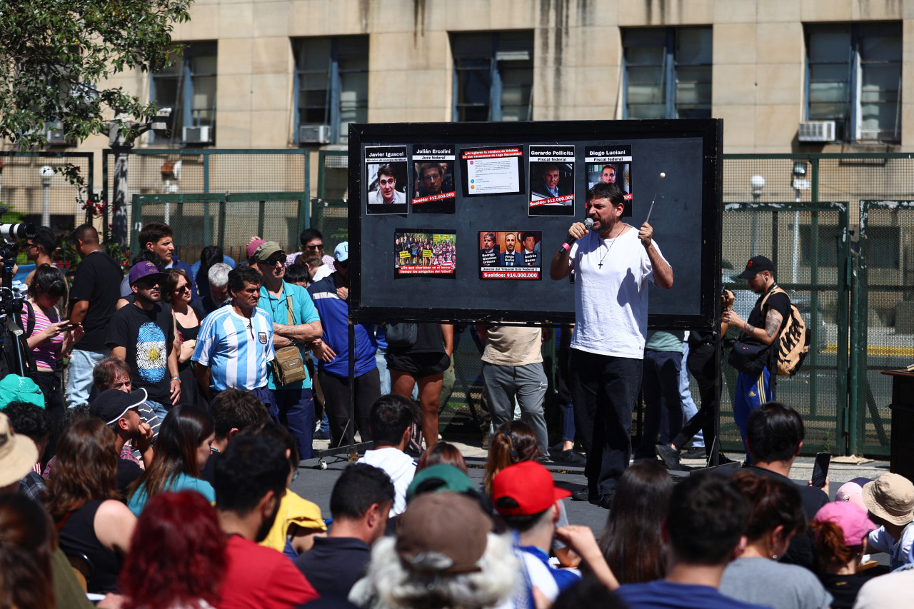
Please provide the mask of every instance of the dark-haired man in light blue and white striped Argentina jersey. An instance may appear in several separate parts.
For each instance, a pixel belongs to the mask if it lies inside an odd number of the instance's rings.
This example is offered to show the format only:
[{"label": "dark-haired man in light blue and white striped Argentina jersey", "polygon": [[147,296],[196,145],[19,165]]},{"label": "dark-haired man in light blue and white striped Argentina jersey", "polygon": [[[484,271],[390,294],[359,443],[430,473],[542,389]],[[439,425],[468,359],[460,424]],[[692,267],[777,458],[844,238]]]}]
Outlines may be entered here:
[{"label": "dark-haired man in light blue and white striped Argentina jersey", "polygon": [[252,393],[270,409],[267,389],[273,351],[273,323],[260,301],[260,273],[251,266],[228,272],[231,302],[207,315],[197,334],[191,358],[197,381],[209,399],[218,391],[237,389]]}]

